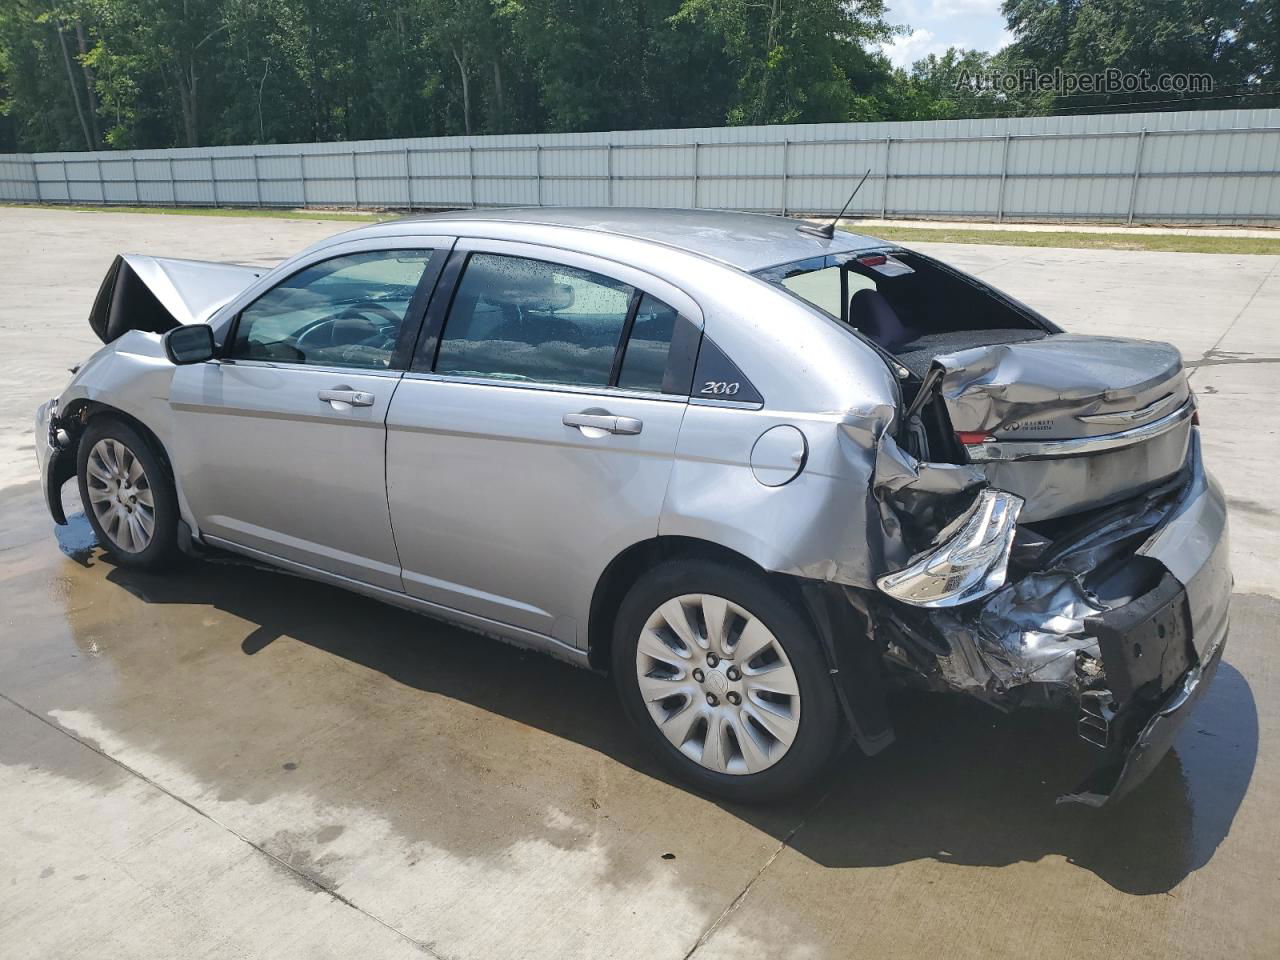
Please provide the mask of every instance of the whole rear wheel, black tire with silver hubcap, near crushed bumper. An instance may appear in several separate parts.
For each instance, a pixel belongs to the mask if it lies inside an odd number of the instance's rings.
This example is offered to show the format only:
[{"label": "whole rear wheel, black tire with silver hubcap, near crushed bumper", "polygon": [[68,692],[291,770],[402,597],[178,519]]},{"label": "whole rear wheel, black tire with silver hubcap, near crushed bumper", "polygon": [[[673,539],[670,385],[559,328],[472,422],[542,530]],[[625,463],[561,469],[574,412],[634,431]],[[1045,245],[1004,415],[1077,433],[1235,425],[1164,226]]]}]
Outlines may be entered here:
[{"label": "whole rear wheel, black tire with silver hubcap, near crushed bumper", "polygon": [[813,627],[763,575],[705,561],[649,571],[618,612],[612,667],[659,759],[709,794],[792,794],[840,742]]}]

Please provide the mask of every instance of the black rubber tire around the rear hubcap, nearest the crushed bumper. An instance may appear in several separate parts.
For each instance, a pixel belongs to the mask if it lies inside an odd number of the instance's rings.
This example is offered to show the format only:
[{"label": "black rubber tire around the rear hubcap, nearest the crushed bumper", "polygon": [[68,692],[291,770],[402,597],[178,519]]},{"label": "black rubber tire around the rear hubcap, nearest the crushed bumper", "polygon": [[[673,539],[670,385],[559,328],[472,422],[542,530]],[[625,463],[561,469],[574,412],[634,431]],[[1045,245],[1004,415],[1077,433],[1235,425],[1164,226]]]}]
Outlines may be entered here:
[{"label": "black rubber tire around the rear hubcap, nearest the crushed bumper", "polygon": [[[662,604],[690,594],[723,598],[748,611],[773,634],[790,660],[799,686],[799,731],[771,767],[739,773],[710,769],[677,749],[645,705],[636,668],[641,631]],[[618,609],[611,666],[622,707],[643,739],[667,769],[705,794],[737,803],[780,800],[808,786],[840,746],[842,724],[836,691],[814,628],[803,611],[762,573],[701,559],[668,561],[648,571]],[[703,695],[705,687],[696,689]],[[737,742],[736,736],[731,742]]]}]

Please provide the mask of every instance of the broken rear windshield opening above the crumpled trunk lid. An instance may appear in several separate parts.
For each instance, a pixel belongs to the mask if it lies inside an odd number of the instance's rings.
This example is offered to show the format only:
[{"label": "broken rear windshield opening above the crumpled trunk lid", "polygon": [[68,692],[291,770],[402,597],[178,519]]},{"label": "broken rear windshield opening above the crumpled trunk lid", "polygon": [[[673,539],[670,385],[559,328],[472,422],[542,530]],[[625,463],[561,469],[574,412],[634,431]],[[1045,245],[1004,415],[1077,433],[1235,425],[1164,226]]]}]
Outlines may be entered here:
[{"label": "broken rear windshield opening above the crumpled trunk lid", "polygon": [[755,275],[896,355],[950,346],[951,340],[969,346],[972,340],[1024,339],[1004,338],[1002,332],[1044,332],[1032,311],[973,278],[904,250],[810,257]]}]

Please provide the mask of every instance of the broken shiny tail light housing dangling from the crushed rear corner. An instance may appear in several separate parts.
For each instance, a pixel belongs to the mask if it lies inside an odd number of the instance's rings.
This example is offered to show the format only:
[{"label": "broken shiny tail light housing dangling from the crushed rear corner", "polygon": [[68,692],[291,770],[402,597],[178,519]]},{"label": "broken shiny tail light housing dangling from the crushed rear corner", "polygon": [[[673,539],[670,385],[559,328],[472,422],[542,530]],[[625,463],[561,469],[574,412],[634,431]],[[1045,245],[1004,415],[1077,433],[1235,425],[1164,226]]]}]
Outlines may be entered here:
[{"label": "broken shiny tail light housing dangling from the crushed rear corner", "polygon": [[895,600],[915,607],[956,607],[1005,584],[1009,552],[1023,498],[984,489],[968,511],[945,527],[932,547],[904,570],[876,584]]}]

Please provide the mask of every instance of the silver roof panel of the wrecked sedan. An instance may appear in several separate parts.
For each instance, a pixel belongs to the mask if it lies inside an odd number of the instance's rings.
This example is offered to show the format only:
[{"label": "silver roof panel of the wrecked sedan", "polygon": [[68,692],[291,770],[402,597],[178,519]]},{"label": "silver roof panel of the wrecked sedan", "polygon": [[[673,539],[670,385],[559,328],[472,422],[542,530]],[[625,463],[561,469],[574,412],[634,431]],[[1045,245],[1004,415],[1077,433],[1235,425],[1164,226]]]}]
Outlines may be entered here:
[{"label": "silver roof panel of the wrecked sedan", "polygon": [[668,207],[492,207],[419,214],[360,230],[399,234],[406,225],[509,223],[630,237],[682,250],[753,273],[795,260],[887,246],[884,241],[836,230],[826,239],[796,229],[803,221],[765,214]]}]

